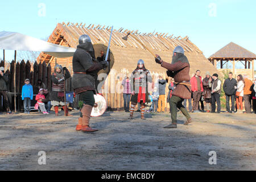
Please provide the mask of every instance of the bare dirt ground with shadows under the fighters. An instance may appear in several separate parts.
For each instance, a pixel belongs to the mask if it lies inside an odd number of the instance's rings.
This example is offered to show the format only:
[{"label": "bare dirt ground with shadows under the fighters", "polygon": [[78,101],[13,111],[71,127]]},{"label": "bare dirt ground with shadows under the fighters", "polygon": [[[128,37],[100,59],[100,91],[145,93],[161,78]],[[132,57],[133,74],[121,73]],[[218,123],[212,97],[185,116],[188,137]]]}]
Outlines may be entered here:
[{"label": "bare dirt ground with shadows under the fighters", "polygon": [[[255,114],[191,114],[164,129],[170,115],[106,112],[92,118],[97,133],[76,132],[73,117],[39,113],[0,115],[1,170],[255,170]],[[46,165],[39,165],[39,151]],[[209,164],[216,151],[217,164]]]}]

